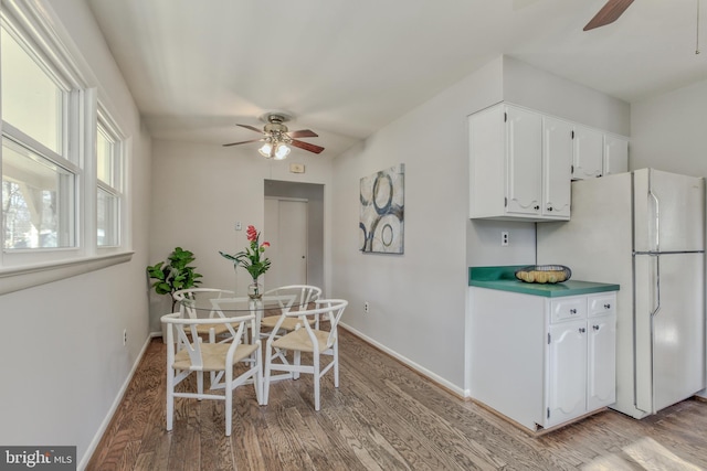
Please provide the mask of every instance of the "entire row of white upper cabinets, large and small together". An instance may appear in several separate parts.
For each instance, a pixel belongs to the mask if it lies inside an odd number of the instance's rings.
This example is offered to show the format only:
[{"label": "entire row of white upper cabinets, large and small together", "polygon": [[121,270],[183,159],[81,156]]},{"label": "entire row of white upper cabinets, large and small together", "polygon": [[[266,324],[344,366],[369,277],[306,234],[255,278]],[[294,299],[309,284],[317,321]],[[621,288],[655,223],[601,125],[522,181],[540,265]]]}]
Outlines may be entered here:
[{"label": "entire row of white upper cabinets, large and small together", "polygon": [[499,103],[468,117],[469,217],[568,221],[571,181],[629,171],[629,139]]}]

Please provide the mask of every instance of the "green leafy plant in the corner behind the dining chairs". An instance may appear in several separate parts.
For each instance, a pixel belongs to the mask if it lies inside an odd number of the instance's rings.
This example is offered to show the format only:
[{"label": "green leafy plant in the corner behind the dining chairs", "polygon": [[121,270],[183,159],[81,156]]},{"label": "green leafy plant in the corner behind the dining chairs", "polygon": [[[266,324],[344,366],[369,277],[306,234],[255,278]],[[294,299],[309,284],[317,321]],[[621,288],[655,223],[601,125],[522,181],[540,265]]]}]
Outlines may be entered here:
[{"label": "green leafy plant in the corner behind the dining chairs", "polygon": [[[196,267],[190,266],[196,260],[194,254],[181,247],[175,250],[165,261],[147,267],[147,275],[156,280],[151,287],[158,295],[169,295],[180,289],[193,288],[201,283],[201,274],[196,271]],[[175,310],[175,298],[172,298],[172,311]]]}]

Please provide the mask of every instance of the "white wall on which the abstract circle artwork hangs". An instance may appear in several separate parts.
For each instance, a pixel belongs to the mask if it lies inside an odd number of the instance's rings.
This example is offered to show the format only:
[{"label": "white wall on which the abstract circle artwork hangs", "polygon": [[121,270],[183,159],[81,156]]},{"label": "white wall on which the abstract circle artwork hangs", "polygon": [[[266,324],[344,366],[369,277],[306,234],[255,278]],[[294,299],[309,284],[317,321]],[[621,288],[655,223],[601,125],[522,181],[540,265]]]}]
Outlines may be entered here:
[{"label": "white wall on which the abstract circle artwork hangs", "polygon": [[[335,295],[344,323],[461,393],[467,286],[466,116],[502,99],[502,61],[335,161]],[[359,181],[405,164],[404,255],[359,251]],[[370,313],[363,313],[363,302]]]}]

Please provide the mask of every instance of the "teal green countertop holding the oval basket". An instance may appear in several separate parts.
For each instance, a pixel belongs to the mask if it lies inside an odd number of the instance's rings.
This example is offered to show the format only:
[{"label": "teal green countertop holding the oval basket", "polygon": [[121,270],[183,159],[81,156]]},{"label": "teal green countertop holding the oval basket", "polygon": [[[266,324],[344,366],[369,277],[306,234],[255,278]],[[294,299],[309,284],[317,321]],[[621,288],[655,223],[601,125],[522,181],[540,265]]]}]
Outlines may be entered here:
[{"label": "teal green countertop holding the oval basket", "polygon": [[559,298],[562,296],[590,295],[592,292],[619,291],[619,285],[569,279],[560,283],[529,283],[516,278],[516,270],[527,265],[504,267],[469,267],[468,286],[520,292],[524,295]]}]

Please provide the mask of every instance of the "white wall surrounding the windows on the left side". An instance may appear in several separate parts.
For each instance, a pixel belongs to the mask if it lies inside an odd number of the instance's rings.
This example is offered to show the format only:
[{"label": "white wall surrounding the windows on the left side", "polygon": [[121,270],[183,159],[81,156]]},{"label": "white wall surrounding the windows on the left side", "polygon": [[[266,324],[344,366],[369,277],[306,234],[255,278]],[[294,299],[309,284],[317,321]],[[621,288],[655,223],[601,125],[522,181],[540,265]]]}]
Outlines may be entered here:
[{"label": "white wall surrounding the windows on the left side", "polygon": [[93,76],[87,78],[133,137],[127,182],[133,260],[0,296],[0,443],[77,446],[82,461],[110,418],[148,336],[150,138],[140,129],[133,98],[85,2],[39,3],[67,47],[89,64]]}]

